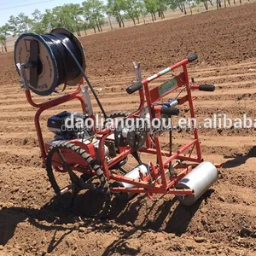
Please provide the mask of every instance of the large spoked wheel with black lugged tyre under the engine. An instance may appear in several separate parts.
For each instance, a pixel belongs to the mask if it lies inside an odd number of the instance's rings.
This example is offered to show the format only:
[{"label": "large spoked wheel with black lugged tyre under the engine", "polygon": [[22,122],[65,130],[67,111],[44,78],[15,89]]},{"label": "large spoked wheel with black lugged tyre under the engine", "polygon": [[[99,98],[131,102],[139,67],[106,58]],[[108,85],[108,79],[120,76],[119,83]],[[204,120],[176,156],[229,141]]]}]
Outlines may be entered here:
[{"label": "large spoked wheel with black lugged tyre under the engine", "polygon": [[[78,170],[84,171],[80,177]],[[47,153],[46,171],[57,198],[73,213],[90,218],[108,215],[111,194],[107,178],[84,149],[56,143]]]}]

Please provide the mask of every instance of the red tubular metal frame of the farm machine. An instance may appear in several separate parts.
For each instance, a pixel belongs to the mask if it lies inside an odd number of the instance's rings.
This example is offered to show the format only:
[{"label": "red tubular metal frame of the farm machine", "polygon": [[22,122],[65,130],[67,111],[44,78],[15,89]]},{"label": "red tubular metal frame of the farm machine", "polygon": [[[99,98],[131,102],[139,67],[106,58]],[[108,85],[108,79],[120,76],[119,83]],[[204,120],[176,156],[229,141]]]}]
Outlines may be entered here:
[{"label": "red tubular metal frame of the farm machine", "polygon": [[[159,102],[160,99],[162,99],[164,96],[170,94],[172,91],[177,90],[181,87],[185,87],[187,95],[183,96],[179,99],[179,105],[183,105],[186,102],[189,102],[189,109],[190,109],[190,117],[193,119],[195,118],[195,112],[194,112],[194,106],[193,106],[193,98],[191,96],[191,90],[198,89],[197,85],[191,86],[189,84],[189,76],[188,76],[188,70],[187,70],[187,64],[189,60],[184,59],[183,61],[179,61],[172,67],[168,67],[165,70],[161,71],[160,73],[156,73],[153,76],[149,77],[148,79],[143,80],[143,89],[139,90],[139,96],[140,96],[140,104],[139,108],[137,109],[136,112],[132,113],[130,117],[136,117],[139,115],[143,108],[145,106],[148,106],[148,112],[150,113],[150,118],[153,119],[153,116],[155,115],[156,117],[160,117],[160,108],[155,106],[156,102]],[[170,71],[173,71],[177,69],[178,67],[183,68],[183,72],[180,73],[178,76],[176,76],[176,81],[177,84],[175,87],[172,88],[172,90],[166,91],[163,95],[160,95],[159,93],[159,87],[155,87],[154,89],[149,88],[150,82],[154,81],[154,79],[160,78],[160,76],[169,73]],[[83,84],[83,81],[79,83]],[[46,149],[45,149],[45,144],[44,144],[44,138],[43,134],[41,131],[41,126],[40,126],[40,115],[43,113],[45,110],[49,108],[53,108],[55,106],[61,105],[64,102],[69,102],[73,99],[78,99],[81,102],[82,106],[82,111],[85,112],[85,104],[84,104],[84,99],[83,97],[79,96],[80,93],[80,87],[75,90],[72,93],[69,93],[67,95],[57,97],[49,102],[44,102],[37,104],[33,102],[32,96],[30,93],[30,90],[26,90],[26,99],[27,101],[32,105],[32,107],[38,108],[37,113],[35,114],[34,122],[38,134],[38,142],[39,142],[39,147],[41,150],[41,156],[43,158],[43,164],[45,166],[45,158],[46,158]],[[146,105],[145,105],[146,103]],[[113,174],[112,172],[109,171],[110,167],[116,165],[119,163],[120,160],[124,160],[125,157],[129,154],[132,153],[132,149],[129,148],[129,146],[125,148],[119,148],[120,149],[120,154],[118,154],[116,157],[114,157],[112,160],[110,160],[108,163],[105,159],[105,153],[104,153],[104,143],[108,136],[113,133],[113,131],[109,130],[102,130],[98,131],[97,134],[100,135],[98,137],[99,140],[99,158],[101,160],[102,164],[102,170],[105,174],[105,176],[108,178],[108,180],[112,181],[118,181],[118,182],[125,182],[125,183],[130,183],[134,185],[133,188],[131,189],[125,189],[122,187],[117,187],[117,188],[112,188],[113,192],[127,192],[127,193],[147,193],[148,195],[153,194],[153,193],[158,193],[158,194],[178,194],[178,195],[191,195],[193,194],[193,190],[191,189],[175,189],[174,185],[178,183],[179,180],[181,180],[187,173],[191,172],[191,170],[201,163],[202,157],[201,157],[201,146],[199,142],[199,137],[198,137],[198,131],[196,129],[194,131],[194,139],[184,145],[182,148],[179,148],[176,152],[173,152],[172,154],[169,154],[169,152],[166,152],[164,150],[161,150],[160,148],[160,140],[159,140],[159,135],[155,134],[154,135],[154,145],[155,148],[152,147],[152,143],[149,139],[149,136],[147,138],[147,147],[142,148],[139,151],[142,152],[143,154],[154,154],[157,155],[158,163],[153,164],[152,162],[150,163],[151,166],[151,173],[149,173],[146,176],[140,177],[140,179],[131,179],[129,177],[125,176],[120,176]],[[189,156],[183,155],[183,152],[187,150],[188,148],[192,148]],[[191,157],[191,153],[194,150],[196,151],[196,156]],[[85,147],[86,150],[86,147]],[[166,160],[163,160],[163,155],[166,155],[168,158]],[[173,160],[182,160],[182,161],[189,161],[190,163],[194,164],[184,164],[184,165],[177,165],[175,168],[181,169],[183,168],[183,171],[180,172],[176,177],[167,177],[166,176],[166,169],[169,165],[170,162]],[[78,163],[79,164],[79,163]],[[79,172],[85,172],[86,168],[80,168],[77,166],[73,167],[74,170],[79,171]],[[151,183],[148,183],[148,180],[151,180]]]}]

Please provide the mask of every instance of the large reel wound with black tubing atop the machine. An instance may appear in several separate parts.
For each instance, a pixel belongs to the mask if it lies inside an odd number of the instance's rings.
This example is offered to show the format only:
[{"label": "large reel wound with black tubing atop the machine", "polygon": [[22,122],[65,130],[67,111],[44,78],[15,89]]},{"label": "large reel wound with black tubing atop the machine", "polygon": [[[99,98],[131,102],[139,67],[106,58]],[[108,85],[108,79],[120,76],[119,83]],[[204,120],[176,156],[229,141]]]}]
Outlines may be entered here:
[{"label": "large reel wound with black tubing atop the machine", "polygon": [[56,28],[39,36],[24,33],[15,43],[15,64],[25,66],[29,88],[40,96],[49,96],[60,84],[76,85],[83,74],[67,47],[85,70],[85,53],[79,39],[65,28]]}]

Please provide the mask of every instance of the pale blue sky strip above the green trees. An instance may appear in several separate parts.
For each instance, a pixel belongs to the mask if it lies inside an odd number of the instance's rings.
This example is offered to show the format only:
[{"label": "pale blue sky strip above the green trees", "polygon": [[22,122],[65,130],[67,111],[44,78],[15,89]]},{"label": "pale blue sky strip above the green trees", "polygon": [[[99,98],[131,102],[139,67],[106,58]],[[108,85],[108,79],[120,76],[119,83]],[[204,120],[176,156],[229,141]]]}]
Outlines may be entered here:
[{"label": "pale blue sky strip above the green trees", "polygon": [[9,20],[10,15],[16,16],[25,13],[30,16],[35,9],[44,13],[45,9],[53,9],[55,6],[65,3],[83,2],[84,0],[0,0],[0,26]]}]

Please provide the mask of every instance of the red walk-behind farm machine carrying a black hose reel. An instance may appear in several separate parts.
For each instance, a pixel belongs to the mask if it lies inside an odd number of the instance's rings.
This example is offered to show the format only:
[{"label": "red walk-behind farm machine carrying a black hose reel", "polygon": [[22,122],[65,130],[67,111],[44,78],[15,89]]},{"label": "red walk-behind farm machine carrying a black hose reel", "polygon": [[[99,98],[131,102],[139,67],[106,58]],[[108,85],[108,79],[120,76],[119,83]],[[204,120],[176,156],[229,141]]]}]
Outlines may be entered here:
[{"label": "red walk-behind farm machine carrying a black hose reel", "polygon": [[[65,202],[70,200],[71,208],[75,207],[78,196],[87,195],[78,204],[83,203],[84,215],[97,218],[108,215],[112,195],[129,198],[140,193],[148,196],[172,194],[186,206],[194,204],[217,181],[218,166],[203,160],[196,128],[192,129],[194,138],[173,152],[172,129],[155,129],[152,121],[160,120],[160,128],[163,128],[163,120],[177,116],[179,107],[187,103],[193,122],[195,97],[191,96],[192,90],[215,89],[213,85],[189,82],[187,65],[196,59],[197,55],[190,55],[148,79],[142,79],[140,66],[135,62],[137,82],[126,91],[138,94],[137,111],[107,115],[84,72],[84,49],[71,32],[60,28],[40,36],[21,35],[15,43],[15,65],[27,102],[38,108],[34,117],[38,143],[55,194]],[[172,79],[167,77],[165,83],[151,85],[152,81],[177,68],[181,73]],[[60,93],[56,90],[60,84],[65,84],[64,87],[77,85],[77,88],[49,101],[35,102],[31,91],[38,96],[49,96]],[[92,110],[89,89],[106,120],[100,130],[93,122],[96,114]],[[186,95],[174,97],[176,90],[183,90]],[[163,102],[166,96],[172,99]],[[47,125],[55,136],[44,142],[41,114],[73,100],[81,103],[81,113],[62,111],[49,117]],[[67,129],[67,119],[71,117],[74,124]],[[90,127],[79,126],[81,119],[89,120]],[[107,119],[118,121],[110,129]],[[127,122],[124,125],[128,119],[129,127]],[[169,150],[160,146],[160,136],[164,132],[169,133]],[[142,155],[150,155],[150,160],[144,162]],[[128,157],[137,163],[130,170],[127,170]]]}]

